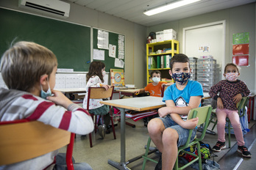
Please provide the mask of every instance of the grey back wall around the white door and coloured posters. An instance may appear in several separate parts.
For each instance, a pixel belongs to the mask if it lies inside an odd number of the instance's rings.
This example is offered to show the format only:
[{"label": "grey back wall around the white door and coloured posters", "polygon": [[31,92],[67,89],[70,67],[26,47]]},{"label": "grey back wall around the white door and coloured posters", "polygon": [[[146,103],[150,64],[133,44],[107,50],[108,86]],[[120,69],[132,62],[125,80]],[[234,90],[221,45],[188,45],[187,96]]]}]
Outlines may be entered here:
[{"label": "grey back wall around the white door and coloured posters", "polygon": [[179,40],[179,51],[182,53],[182,29],[189,26],[197,26],[216,21],[226,21],[226,53],[225,63],[232,62],[232,34],[249,32],[249,66],[241,67],[241,80],[245,81],[251,92],[256,92],[255,75],[255,19],[256,3],[246,4],[239,7],[232,7],[227,10],[209,12],[203,15],[197,15],[190,18],[184,18],[179,21],[167,22],[157,26],[149,26],[149,32],[159,32],[163,29],[174,29],[177,31],[177,40]]}]

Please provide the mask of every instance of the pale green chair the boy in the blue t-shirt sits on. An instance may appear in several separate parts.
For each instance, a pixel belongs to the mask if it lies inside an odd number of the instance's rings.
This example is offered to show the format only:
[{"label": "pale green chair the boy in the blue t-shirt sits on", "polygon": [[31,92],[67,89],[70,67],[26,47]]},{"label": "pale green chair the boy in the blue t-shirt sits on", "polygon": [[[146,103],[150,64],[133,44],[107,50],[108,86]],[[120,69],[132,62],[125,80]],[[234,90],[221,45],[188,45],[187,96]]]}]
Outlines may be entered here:
[{"label": "pale green chair the boy in the blue t-shirt sits on", "polygon": [[[207,130],[207,126],[208,126],[208,123],[209,123],[210,114],[211,114],[212,109],[213,108],[211,106],[203,106],[203,107],[200,107],[200,108],[193,108],[193,109],[191,109],[191,111],[189,111],[188,119],[192,119],[194,117],[199,117],[199,122],[197,123],[197,126],[200,126],[200,125],[204,124],[203,130],[202,130],[202,135],[200,136],[200,138],[195,138],[190,143],[190,138],[191,138],[193,130],[189,130],[188,141],[186,142],[186,144],[184,146],[181,146],[181,147],[178,148],[177,160],[176,160],[176,163],[174,165],[174,169],[185,169],[186,167],[190,166],[192,163],[196,162],[197,160],[199,160],[199,169],[200,170],[202,169],[202,158],[201,158],[200,149],[198,149],[198,155],[194,155],[191,152],[186,152],[184,149],[186,149],[187,147],[191,147],[193,144],[196,144],[197,148],[200,148],[200,142],[199,141],[202,141],[202,139],[205,138],[205,132]],[[152,162],[157,163],[157,160],[153,160],[152,158],[148,158],[150,142],[151,142],[151,138],[149,137],[148,144],[146,146],[145,155],[142,156],[144,158],[142,169],[145,169],[146,160],[151,160]],[[178,167],[179,152],[185,152],[189,155],[195,156],[196,158],[194,160],[192,160],[191,162],[189,162],[189,163],[187,163],[184,166],[179,168]]]}]

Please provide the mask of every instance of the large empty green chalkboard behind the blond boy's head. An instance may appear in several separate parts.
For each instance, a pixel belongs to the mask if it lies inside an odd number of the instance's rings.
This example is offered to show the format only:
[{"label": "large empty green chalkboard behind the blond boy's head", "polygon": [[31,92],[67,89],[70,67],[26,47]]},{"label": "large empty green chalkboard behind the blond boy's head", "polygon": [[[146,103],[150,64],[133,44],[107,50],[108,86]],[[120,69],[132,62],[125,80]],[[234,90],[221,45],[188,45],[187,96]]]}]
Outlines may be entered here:
[{"label": "large empty green chalkboard behind the blond boy's head", "polygon": [[0,55],[15,40],[32,41],[57,56],[58,68],[88,71],[90,27],[0,8]]}]

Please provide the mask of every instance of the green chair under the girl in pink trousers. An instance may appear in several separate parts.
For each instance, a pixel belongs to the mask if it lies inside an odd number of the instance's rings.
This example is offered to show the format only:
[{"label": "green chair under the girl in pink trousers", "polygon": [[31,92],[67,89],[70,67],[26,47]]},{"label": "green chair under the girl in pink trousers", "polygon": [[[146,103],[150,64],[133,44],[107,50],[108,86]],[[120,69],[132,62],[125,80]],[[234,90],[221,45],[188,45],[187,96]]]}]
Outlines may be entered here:
[{"label": "green chair under the girl in pink trousers", "polygon": [[[246,114],[246,103],[248,102],[248,100],[249,100],[249,97],[242,97],[241,101],[236,104],[236,106],[238,108],[239,117],[243,117],[244,114]],[[214,121],[213,120],[214,118],[216,118],[216,108],[213,109],[212,116],[210,118],[210,122],[214,123],[214,125],[212,127],[212,130],[216,127],[217,122],[218,122],[218,119],[216,119],[216,121]],[[230,142],[230,138],[231,138],[231,135],[230,135],[231,123],[230,123],[230,119],[228,117],[226,118],[226,121],[228,122],[227,129],[228,129],[228,133],[229,133],[228,134],[228,139],[229,139],[229,148],[230,148],[231,147],[231,142]]]}]

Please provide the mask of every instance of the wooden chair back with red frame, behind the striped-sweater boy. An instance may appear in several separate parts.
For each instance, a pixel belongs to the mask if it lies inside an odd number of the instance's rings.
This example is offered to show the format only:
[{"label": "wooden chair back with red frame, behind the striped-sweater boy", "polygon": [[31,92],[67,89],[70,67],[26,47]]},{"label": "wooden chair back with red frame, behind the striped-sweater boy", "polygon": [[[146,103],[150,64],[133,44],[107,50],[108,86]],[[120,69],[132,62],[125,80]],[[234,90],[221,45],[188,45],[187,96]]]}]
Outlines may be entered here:
[{"label": "wooden chair back with red frame, behind the striped-sweater boy", "polygon": [[68,144],[66,163],[68,170],[74,170],[74,133],[43,122],[20,119],[0,122],[0,138],[0,166],[36,158]]}]

